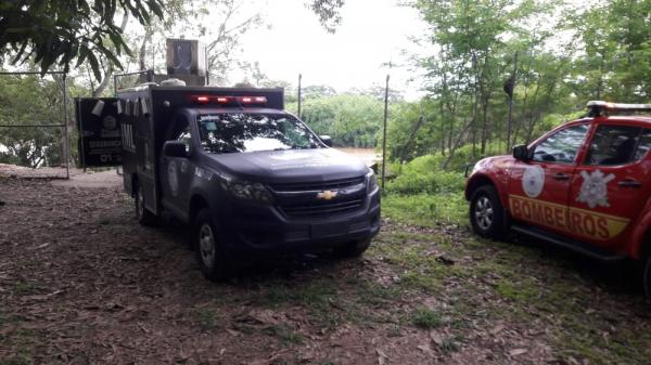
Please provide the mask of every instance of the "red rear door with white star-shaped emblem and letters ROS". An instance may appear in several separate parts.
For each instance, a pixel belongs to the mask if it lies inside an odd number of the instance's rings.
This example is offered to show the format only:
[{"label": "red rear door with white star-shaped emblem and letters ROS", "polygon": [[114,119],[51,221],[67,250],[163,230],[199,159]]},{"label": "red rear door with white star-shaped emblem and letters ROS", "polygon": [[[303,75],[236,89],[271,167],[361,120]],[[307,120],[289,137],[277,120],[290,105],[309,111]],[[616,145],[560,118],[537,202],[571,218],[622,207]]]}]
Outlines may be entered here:
[{"label": "red rear door with white star-shaped emblem and letters ROS", "polygon": [[617,250],[651,193],[651,129],[605,120],[596,123],[588,145],[572,179],[572,235]]}]

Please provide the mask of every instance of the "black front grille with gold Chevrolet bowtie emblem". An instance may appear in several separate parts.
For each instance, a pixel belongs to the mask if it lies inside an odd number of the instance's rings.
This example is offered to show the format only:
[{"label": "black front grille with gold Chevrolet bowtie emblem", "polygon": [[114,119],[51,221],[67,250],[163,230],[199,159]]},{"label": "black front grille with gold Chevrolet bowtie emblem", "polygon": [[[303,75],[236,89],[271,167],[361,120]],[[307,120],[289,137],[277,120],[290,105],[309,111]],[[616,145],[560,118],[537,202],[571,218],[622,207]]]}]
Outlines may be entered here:
[{"label": "black front grille with gold Chevrolet bowtie emblem", "polygon": [[[336,217],[362,208],[366,198],[365,178],[340,179],[311,183],[271,184],[278,210],[289,218]],[[331,200],[318,199],[320,192],[339,192]]]}]

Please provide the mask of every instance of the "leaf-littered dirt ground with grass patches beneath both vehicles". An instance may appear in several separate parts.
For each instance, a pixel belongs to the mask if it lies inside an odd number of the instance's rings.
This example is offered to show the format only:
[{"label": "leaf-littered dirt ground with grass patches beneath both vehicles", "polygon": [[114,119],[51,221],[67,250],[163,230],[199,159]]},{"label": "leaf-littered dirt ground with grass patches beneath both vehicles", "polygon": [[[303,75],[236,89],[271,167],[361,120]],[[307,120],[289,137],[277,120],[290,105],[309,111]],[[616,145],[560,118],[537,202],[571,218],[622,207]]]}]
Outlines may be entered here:
[{"label": "leaf-littered dirt ground with grass patches beneath both vehicles", "polygon": [[0,200],[2,365],[651,363],[628,278],[463,227],[385,220],[362,259],[210,283],[186,229],[138,225],[120,186],[0,178]]}]

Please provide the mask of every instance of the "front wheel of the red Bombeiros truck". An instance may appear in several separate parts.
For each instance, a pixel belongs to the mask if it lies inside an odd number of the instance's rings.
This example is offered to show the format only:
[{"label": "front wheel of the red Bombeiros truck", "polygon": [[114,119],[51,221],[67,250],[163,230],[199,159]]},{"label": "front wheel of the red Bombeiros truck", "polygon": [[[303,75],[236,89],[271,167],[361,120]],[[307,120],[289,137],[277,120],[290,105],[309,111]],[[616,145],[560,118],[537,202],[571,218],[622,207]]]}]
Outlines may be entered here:
[{"label": "front wheel of the red Bombeiros truck", "polygon": [[472,193],[470,224],[474,233],[482,237],[505,237],[505,209],[493,185],[482,185]]}]

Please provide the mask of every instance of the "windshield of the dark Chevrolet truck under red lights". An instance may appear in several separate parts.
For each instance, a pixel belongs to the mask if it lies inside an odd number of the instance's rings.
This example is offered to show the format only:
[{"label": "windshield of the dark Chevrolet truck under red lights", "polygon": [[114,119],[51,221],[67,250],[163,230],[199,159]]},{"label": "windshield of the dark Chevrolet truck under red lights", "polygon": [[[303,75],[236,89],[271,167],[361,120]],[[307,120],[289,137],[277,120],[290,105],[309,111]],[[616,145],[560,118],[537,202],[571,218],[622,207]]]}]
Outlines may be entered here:
[{"label": "windshield of the dark Chevrolet truck under red lights", "polygon": [[322,147],[305,125],[289,115],[225,113],[196,120],[201,145],[213,154]]}]

